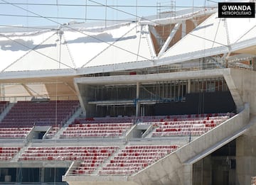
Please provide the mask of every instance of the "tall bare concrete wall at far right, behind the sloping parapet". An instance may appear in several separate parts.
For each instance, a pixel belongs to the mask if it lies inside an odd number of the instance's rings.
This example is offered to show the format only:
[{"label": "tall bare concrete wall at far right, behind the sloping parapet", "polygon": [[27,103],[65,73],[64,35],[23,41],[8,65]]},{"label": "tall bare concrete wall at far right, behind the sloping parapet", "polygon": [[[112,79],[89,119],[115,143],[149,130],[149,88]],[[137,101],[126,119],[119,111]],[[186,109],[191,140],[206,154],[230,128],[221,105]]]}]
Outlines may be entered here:
[{"label": "tall bare concrete wall at far right, behind the sloping parapet", "polygon": [[[256,114],[256,72],[245,69],[231,69],[231,77],[243,102],[250,103],[251,122]],[[256,125],[237,138],[236,165],[240,184],[250,184],[256,175]]]}]

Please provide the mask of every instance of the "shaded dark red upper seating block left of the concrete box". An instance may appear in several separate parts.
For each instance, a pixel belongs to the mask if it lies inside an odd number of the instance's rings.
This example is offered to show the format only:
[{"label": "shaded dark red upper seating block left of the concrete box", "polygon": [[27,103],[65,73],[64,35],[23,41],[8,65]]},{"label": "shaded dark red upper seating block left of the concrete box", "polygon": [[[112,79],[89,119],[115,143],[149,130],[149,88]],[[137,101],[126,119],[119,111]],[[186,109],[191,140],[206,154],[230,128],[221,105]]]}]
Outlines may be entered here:
[{"label": "shaded dark red upper seating block left of the concrete box", "polygon": [[5,118],[1,128],[24,128],[34,125],[62,125],[78,108],[78,101],[18,101]]}]

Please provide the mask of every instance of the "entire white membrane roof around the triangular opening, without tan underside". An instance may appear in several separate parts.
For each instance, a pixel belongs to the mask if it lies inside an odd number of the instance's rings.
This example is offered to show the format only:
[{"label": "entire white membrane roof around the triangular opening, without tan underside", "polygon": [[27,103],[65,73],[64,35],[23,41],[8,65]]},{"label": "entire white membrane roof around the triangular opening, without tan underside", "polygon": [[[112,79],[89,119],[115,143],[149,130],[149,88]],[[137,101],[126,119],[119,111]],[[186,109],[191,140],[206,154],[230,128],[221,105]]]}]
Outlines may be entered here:
[{"label": "entire white membrane roof around the triangular opening, without tan underside", "polygon": [[[168,18],[151,23],[166,20]],[[15,74],[18,77],[20,72],[52,69],[65,69],[66,75],[112,72],[186,62],[228,52],[255,55],[255,18],[218,18],[214,13],[160,57],[156,56],[145,21],[106,28],[76,26],[2,32],[0,56],[4,62],[1,62],[0,77],[5,72],[19,72]],[[36,72],[31,77],[41,74]],[[48,72],[45,75],[48,76]]]}]

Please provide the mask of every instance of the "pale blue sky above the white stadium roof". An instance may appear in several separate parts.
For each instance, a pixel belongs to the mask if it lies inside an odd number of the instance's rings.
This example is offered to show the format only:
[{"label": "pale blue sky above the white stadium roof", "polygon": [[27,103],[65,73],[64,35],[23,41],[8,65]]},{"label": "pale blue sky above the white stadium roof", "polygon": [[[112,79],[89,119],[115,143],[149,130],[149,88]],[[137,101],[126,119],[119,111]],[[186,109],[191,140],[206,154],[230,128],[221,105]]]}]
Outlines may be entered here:
[{"label": "pale blue sky above the white stadium roof", "polygon": [[[157,3],[170,6],[171,0],[0,0],[0,26],[53,26],[136,16],[139,19],[156,14]],[[216,4],[210,0],[176,0],[175,9]]]}]

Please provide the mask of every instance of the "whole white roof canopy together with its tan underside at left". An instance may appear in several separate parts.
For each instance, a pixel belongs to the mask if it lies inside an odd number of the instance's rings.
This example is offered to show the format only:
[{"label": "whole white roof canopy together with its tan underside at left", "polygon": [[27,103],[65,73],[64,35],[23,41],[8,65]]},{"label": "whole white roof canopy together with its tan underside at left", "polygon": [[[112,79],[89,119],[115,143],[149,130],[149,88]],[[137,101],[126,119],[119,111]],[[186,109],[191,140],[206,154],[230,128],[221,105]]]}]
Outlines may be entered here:
[{"label": "whole white roof canopy together with its tan underside at left", "polygon": [[[175,18],[152,16],[105,25],[1,27],[0,84],[5,86],[1,96],[21,92],[14,88],[17,84],[28,96],[54,95],[56,83],[63,94],[75,95],[70,77],[83,74],[156,67],[231,52],[256,55],[256,18],[218,18],[216,11],[185,10]],[[211,16],[161,55],[156,55],[152,26],[177,25],[206,15]]]}]

